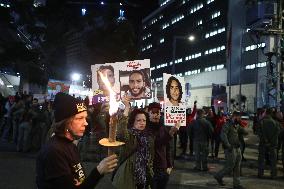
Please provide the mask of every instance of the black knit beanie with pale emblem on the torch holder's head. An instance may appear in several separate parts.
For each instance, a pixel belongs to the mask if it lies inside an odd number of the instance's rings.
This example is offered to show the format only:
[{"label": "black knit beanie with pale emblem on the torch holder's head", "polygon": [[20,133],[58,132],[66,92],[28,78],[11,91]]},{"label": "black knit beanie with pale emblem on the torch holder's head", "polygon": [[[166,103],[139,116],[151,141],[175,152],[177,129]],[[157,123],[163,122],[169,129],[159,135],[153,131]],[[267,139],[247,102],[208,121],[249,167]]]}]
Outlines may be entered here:
[{"label": "black knit beanie with pale emblem on the torch holder's head", "polygon": [[87,111],[83,101],[62,92],[56,94],[54,99],[55,122],[62,121],[83,111]]}]

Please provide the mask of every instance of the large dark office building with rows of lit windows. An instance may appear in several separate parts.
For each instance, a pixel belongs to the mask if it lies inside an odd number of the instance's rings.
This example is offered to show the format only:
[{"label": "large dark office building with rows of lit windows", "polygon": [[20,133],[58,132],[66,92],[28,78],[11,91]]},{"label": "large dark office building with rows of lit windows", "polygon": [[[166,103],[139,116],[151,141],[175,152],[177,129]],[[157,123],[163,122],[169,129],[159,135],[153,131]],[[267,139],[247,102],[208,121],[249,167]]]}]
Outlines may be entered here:
[{"label": "large dark office building with rows of lit windows", "polygon": [[184,76],[191,86],[189,105],[197,100],[204,106],[211,105],[212,84],[225,85],[227,101],[245,95],[253,110],[257,73],[266,72],[261,50],[267,40],[250,30],[247,12],[253,5],[248,2],[160,0],[160,7],[142,21],[141,58],[151,59],[153,82],[161,86],[163,73]]}]

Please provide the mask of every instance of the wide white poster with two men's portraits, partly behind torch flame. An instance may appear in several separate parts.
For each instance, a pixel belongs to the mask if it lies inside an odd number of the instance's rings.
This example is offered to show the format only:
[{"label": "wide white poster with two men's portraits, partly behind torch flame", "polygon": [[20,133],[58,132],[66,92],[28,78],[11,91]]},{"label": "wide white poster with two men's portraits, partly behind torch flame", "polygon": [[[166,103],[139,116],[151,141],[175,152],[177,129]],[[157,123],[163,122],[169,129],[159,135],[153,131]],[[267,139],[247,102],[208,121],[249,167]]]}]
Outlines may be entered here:
[{"label": "wide white poster with two men's portraits, partly behind torch flame", "polygon": [[107,90],[98,71],[108,77],[118,98],[123,95],[128,95],[133,100],[151,98],[149,59],[96,64],[91,66],[91,70],[95,103],[107,101]]}]

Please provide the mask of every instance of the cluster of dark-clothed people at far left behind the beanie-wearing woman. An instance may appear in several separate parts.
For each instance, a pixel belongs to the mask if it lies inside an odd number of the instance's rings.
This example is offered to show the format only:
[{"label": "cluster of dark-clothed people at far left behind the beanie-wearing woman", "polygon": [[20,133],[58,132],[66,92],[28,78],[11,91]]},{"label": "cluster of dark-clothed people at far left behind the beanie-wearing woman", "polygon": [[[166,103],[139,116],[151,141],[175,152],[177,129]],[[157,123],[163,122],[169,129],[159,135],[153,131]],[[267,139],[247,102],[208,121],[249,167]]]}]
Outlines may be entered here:
[{"label": "cluster of dark-clothed people at far left behind the beanie-wearing woman", "polygon": [[0,96],[0,138],[17,145],[17,151],[37,151],[52,124],[51,102],[39,103],[32,95]]}]

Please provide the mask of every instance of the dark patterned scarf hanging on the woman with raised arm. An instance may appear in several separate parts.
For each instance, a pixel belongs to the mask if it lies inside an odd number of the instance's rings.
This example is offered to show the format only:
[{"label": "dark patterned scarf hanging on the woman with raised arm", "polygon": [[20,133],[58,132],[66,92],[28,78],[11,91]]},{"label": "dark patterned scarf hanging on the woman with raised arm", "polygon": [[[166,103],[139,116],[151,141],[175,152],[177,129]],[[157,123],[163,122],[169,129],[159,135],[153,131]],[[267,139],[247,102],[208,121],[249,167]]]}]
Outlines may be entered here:
[{"label": "dark patterned scarf hanging on the woman with raised arm", "polygon": [[149,134],[146,130],[130,129],[130,133],[136,136],[137,152],[134,165],[134,177],[136,184],[146,185],[147,182],[147,160],[150,158]]}]

